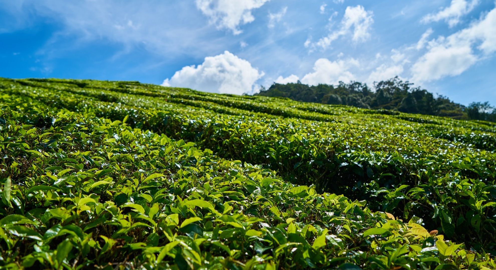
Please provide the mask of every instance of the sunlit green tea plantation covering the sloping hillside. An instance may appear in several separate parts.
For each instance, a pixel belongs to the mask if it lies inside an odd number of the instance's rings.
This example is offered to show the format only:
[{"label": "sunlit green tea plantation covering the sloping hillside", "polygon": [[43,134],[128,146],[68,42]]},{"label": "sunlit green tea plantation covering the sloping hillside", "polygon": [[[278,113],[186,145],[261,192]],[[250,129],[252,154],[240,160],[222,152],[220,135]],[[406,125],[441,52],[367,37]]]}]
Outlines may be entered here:
[{"label": "sunlit green tea plantation covering the sloping hillside", "polygon": [[496,269],[496,124],[0,78],[2,269]]}]

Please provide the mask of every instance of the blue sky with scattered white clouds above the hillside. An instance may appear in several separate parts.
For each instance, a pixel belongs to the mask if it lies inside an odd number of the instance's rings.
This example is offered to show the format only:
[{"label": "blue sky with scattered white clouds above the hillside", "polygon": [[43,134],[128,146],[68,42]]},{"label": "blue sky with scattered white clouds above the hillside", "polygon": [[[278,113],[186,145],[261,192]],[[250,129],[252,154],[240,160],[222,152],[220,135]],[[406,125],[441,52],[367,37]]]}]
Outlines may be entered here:
[{"label": "blue sky with scattered white clouds above the hillside", "polygon": [[496,105],[493,0],[0,0],[0,76],[217,93],[400,76]]}]

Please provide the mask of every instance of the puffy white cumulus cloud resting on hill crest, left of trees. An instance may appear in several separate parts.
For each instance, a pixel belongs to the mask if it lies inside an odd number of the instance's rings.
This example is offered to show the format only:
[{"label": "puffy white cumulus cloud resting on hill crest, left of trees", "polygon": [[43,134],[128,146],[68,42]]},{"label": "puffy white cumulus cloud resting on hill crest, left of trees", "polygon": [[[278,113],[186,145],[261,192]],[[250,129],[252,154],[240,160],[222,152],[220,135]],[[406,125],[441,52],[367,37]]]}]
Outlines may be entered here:
[{"label": "puffy white cumulus cloud resting on hill crest, left of trees", "polygon": [[263,75],[247,60],[225,51],[224,54],[205,57],[197,66],[183,67],[172,78],[165,79],[162,85],[241,95],[252,92],[255,82]]}]

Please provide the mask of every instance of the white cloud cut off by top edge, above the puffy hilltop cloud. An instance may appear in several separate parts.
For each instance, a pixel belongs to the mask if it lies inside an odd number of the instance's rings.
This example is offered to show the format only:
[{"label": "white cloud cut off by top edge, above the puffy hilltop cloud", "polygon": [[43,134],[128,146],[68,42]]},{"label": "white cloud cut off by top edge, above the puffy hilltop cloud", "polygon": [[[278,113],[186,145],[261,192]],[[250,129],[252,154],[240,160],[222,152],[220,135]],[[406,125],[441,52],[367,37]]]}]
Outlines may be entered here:
[{"label": "white cloud cut off by top edge, above the puffy hilltop cloud", "polygon": [[196,0],[196,7],[219,29],[227,28],[238,35],[243,32],[239,29],[240,25],[255,20],[251,11],[267,1],[269,0]]}]

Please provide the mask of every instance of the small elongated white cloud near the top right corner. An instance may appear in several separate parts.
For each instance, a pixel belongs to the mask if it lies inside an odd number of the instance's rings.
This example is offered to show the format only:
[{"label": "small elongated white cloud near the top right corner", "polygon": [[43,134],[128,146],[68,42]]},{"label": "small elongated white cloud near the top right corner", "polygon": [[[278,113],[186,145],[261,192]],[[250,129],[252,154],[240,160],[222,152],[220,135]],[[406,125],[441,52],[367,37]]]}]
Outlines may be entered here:
[{"label": "small elongated white cloud near the top right corner", "polygon": [[479,0],[451,0],[451,4],[437,13],[431,13],[422,18],[422,22],[437,22],[444,20],[449,27],[453,27],[460,22],[460,18],[468,14],[474,7],[479,4]]}]

